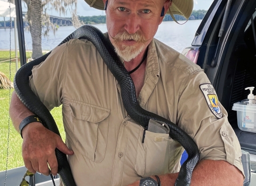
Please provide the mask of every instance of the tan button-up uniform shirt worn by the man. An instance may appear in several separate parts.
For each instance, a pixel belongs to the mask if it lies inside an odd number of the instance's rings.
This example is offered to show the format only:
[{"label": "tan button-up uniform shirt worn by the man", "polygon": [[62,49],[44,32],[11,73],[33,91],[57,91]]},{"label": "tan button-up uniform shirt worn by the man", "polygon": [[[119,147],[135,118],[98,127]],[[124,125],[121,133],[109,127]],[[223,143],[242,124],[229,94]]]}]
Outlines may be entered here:
[{"label": "tan button-up uniform shirt worn by the man", "polygon": [[[196,142],[201,159],[227,160],[243,172],[241,147],[221,107],[217,119],[200,84],[203,70],[153,39],[148,47],[141,107],[177,123]],[[95,47],[70,40],[34,67],[33,91],[47,108],[62,104],[68,160],[78,186],[127,185],[141,176],[179,172],[183,148],[169,137],[146,131],[127,116],[121,89]]]}]

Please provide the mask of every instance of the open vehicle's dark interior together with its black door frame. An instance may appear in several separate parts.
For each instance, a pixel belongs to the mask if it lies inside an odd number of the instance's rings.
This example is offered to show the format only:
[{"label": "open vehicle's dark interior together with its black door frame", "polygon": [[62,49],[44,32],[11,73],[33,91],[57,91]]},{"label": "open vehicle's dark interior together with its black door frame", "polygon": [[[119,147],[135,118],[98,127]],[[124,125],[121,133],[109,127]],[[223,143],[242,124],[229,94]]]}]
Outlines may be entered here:
[{"label": "open vehicle's dark interior together with its black door frame", "polygon": [[[231,3],[221,38],[218,34],[227,1],[214,1],[210,11],[213,11],[214,4],[218,5],[218,9],[215,10],[209,31],[205,33],[197,64],[204,69],[217,91],[242,149],[255,155],[256,133],[238,128],[237,112],[232,107],[234,103],[247,98],[250,91],[245,88],[255,87],[253,94],[256,95],[256,1],[238,0]],[[212,16],[210,11],[205,19]],[[201,32],[202,26],[196,34]],[[255,164],[252,164],[252,169],[256,171]]]}]

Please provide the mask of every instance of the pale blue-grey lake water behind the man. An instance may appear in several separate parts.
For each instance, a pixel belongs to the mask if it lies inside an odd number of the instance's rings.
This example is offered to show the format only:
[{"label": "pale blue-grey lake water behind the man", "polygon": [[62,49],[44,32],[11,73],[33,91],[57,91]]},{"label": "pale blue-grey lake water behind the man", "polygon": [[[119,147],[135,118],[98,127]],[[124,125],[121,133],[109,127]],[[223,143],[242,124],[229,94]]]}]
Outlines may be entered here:
[{"label": "pale blue-grey lake water behind the man", "polygon": [[[180,21],[183,23],[184,21]],[[166,21],[159,25],[155,38],[169,45],[178,52],[191,45],[196,30],[202,20],[190,20],[183,25],[174,21]],[[102,32],[107,32],[106,24],[96,24]],[[55,35],[49,33],[49,37],[42,37],[42,49],[52,50],[59,45],[70,33],[75,30],[73,26],[60,27]],[[32,40],[29,32],[25,32],[26,50],[32,50]],[[10,29],[0,29],[0,49],[10,49]],[[14,49],[14,29],[11,29],[11,49]]]}]

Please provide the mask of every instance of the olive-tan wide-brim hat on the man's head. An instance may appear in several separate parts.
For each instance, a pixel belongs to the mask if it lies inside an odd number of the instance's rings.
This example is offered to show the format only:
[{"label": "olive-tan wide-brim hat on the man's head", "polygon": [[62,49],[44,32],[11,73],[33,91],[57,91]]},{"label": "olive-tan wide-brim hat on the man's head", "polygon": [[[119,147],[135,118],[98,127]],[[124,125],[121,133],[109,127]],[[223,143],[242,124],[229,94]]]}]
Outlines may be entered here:
[{"label": "olive-tan wide-brim hat on the man's head", "polygon": [[[95,9],[104,10],[104,4],[102,0],[84,0],[87,4]],[[172,0],[170,7],[172,14],[178,14],[184,16],[186,19],[189,18],[193,11],[194,0]],[[167,13],[170,14],[168,10]]]}]

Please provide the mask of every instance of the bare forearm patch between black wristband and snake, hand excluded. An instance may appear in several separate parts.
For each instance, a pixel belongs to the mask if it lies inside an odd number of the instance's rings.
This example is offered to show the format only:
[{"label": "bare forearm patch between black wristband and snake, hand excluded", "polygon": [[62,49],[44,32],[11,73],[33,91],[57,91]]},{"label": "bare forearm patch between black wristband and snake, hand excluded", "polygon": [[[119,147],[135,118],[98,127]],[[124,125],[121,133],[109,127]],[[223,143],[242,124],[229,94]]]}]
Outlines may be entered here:
[{"label": "bare forearm patch between black wristband and snake, hand excluded", "polygon": [[12,123],[14,128],[19,131],[19,125],[23,119],[30,115],[34,115],[29,109],[20,101],[15,91],[12,94],[10,110],[10,117],[12,119]]}]

